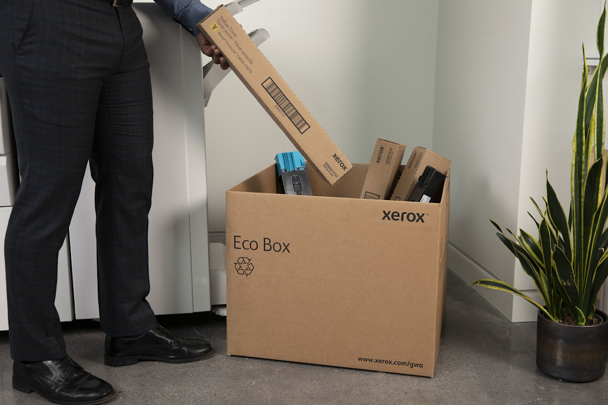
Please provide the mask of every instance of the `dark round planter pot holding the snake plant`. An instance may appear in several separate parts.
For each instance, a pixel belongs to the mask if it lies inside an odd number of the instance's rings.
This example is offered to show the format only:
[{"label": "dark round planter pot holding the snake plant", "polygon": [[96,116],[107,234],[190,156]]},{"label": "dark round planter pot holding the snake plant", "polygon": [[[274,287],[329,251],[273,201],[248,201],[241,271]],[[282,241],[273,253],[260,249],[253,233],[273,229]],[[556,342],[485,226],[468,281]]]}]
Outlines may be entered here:
[{"label": "dark round planter pot holding the snake plant", "polygon": [[539,311],[536,324],[536,366],[547,375],[574,383],[595,381],[606,370],[608,316],[594,326],[559,324]]}]

